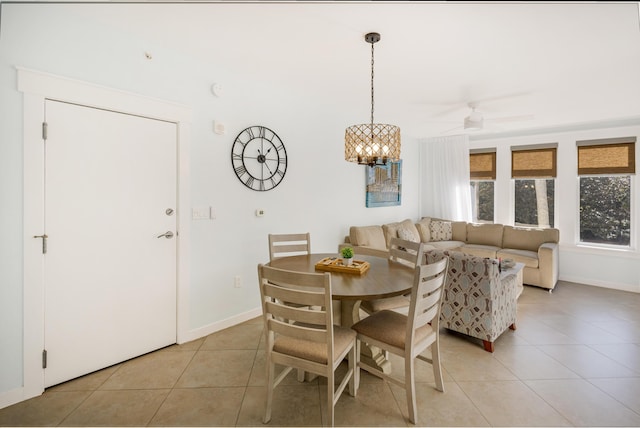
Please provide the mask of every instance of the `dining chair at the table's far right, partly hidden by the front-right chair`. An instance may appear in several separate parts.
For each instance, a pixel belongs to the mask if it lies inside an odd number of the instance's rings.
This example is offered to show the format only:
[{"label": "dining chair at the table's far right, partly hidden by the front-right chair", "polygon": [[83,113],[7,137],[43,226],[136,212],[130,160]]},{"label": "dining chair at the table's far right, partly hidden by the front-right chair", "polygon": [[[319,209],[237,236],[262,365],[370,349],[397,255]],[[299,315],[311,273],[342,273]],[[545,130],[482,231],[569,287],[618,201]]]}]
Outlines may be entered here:
[{"label": "dining chair at the table's far right, partly hidden by the front-right chair", "polygon": [[[424,263],[424,252],[424,244],[421,242],[407,241],[400,238],[391,238],[389,240],[389,260],[392,262],[415,267],[417,264]],[[369,315],[385,309],[404,312],[408,307],[409,296],[365,300],[360,304],[360,309]]]}]

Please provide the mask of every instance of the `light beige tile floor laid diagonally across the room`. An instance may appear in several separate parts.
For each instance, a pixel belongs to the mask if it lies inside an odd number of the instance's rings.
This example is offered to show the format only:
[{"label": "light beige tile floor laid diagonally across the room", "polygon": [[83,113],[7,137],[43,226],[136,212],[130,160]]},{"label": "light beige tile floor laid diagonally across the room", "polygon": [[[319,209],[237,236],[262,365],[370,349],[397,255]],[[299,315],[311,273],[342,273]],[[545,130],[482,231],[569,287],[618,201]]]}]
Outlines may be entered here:
[{"label": "light beige tile floor laid diagonally across the room", "polygon": [[[418,362],[424,426],[640,426],[640,294],[560,282],[525,287],[518,329],[493,354],[441,333],[445,392]],[[2,426],[262,426],[262,319],[135,358],[0,409]],[[402,360],[392,359],[401,370]],[[318,426],[326,381],[276,388],[270,426]],[[363,374],[338,426],[407,426],[404,391]]]}]

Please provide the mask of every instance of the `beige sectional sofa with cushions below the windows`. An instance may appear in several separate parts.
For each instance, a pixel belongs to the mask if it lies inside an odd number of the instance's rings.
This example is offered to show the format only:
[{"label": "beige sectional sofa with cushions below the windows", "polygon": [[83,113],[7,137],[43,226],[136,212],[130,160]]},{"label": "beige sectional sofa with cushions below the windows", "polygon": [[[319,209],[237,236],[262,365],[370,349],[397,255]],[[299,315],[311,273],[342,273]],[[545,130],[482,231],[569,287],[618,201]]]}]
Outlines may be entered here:
[{"label": "beige sectional sofa with cushions below the windows", "polygon": [[349,245],[356,254],[388,257],[389,240],[397,236],[425,243],[425,249],[460,251],[491,259],[524,263],[523,282],[553,290],[558,282],[558,229],[476,224],[425,217],[383,225],[351,226],[340,247]]}]

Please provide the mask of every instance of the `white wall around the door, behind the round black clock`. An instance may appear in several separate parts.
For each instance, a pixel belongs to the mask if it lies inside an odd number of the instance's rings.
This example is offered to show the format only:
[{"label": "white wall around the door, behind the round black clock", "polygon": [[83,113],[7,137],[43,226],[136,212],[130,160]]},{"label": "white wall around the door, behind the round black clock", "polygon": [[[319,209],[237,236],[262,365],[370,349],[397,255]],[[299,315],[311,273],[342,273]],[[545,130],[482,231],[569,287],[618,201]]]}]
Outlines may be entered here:
[{"label": "white wall around the door, behind the round black clock", "polygon": [[[23,230],[22,220],[23,105],[16,89],[16,66],[174,101],[193,110],[191,201],[194,207],[212,206],[216,219],[191,223],[191,336],[214,331],[259,308],[256,266],[268,260],[268,233],[309,231],[314,251],[331,252],[352,224],[381,224],[418,215],[415,139],[403,135],[402,205],[366,208],[364,167],[343,160],[344,129],[352,124],[347,118],[353,112],[341,111],[339,94],[333,97],[336,102],[323,104],[269,82],[246,81],[210,58],[205,62],[150,44],[110,27],[104,19],[77,20],[74,7],[2,6],[0,407],[21,399],[22,252],[23,236],[31,233]],[[97,16],[101,8],[114,5],[90,7],[95,7]],[[144,58],[146,50],[153,53],[153,60]],[[224,85],[220,98],[210,91],[215,82]],[[361,120],[366,121],[366,108],[363,111]],[[226,135],[213,133],[214,119],[224,122]],[[255,124],[275,130],[289,157],[283,182],[269,192],[247,189],[231,168],[233,139]],[[266,215],[256,217],[257,208]],[[234,288],[236,275],[242,278],[242,288]]]}]

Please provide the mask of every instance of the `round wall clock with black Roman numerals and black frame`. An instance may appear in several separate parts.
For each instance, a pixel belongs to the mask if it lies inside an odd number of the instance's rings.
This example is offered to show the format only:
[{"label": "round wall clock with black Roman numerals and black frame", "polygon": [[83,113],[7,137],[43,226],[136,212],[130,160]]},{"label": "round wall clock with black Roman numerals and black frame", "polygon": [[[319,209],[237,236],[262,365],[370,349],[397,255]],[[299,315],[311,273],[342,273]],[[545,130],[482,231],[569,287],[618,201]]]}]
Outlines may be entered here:
[{"label": "round wall clock with black Roman numerals and black frame", "polygon": [[231,149],[238,179],[264,192],[276,187],[287,172],[287,151],[278,135],[264,126],[250,126],[238,134]]}]

